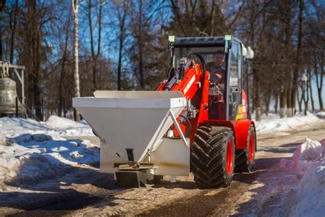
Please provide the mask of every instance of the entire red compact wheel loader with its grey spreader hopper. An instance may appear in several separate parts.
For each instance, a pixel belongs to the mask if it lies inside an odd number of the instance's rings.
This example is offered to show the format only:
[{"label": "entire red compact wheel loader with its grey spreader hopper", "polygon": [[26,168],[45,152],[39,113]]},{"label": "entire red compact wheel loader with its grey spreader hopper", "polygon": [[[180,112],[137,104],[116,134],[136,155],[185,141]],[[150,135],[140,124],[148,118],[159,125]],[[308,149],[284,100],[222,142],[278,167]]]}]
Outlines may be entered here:
[{"label": "entire red compact wheel loader with its grey spreader hopper", "polygon": [[169,36],[170,65],[157,91],[95,91],[73,106],[101,139],[101,172],[122,187],[163,176],[189,176],[200,187],[226,187],[251,172],[254,122],[243,90],[243,58],[253,52],[232,36]]}]

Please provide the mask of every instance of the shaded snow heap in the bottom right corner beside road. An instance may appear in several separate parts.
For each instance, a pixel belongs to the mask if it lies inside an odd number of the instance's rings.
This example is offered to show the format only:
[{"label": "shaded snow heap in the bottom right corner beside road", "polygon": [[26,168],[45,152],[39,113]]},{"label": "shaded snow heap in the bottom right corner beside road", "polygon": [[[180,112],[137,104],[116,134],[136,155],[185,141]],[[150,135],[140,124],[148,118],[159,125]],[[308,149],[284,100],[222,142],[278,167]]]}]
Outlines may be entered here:
[{"label": "shaded snow heap in the bottom right corner beside road", "polygon": [[302,176],[293,198],[290,216],[324,216],[325,214],[325,139],[306,139],[291,160],[281,159],[280,167],[296,169]]}]

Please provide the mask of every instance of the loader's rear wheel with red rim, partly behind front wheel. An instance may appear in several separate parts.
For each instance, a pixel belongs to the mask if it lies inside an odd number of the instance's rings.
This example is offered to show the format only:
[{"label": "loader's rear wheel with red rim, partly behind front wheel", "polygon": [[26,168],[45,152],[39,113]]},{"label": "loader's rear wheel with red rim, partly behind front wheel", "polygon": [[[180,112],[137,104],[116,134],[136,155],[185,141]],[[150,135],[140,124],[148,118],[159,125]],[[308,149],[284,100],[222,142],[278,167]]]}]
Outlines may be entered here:
[{"label": "loader's rear wheel with red rim, partly behind front wheel", "polygon": [[[251,143],[251,138],[254,141]],[[252,153],[250,152],[251,145]],[[256,150],[256,135],[254,130],[254,125],[250,126],[250,130],[248,131],[248,140],[247,140],[247,148],[239,149],[236,151],[236,159],[234,172],[252,172],[254,163],[255,163],[255,150]],[[251,155],[252,154],[252,155]]]}]

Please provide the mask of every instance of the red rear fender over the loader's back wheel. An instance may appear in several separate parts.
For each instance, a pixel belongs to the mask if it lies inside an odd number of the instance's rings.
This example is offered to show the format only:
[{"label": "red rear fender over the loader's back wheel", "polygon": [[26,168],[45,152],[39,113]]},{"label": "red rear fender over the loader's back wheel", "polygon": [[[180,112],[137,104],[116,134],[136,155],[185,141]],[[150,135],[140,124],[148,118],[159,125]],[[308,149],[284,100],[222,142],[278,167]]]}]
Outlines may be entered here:
[{"label": "red rear fender over the loader's back wheel", "polygon": [[[248,130],[250,130],[251,125],[254,126],[254,133],[255,133],[254,139],[256,141],[256,130],[255,130],[254,122],[249,119],[237,120],[234,126],[236,131],[236,137],[237,137],[237,149],[247,148]],[[256,150],[256,146],[255,146],[255,150]]]}]

